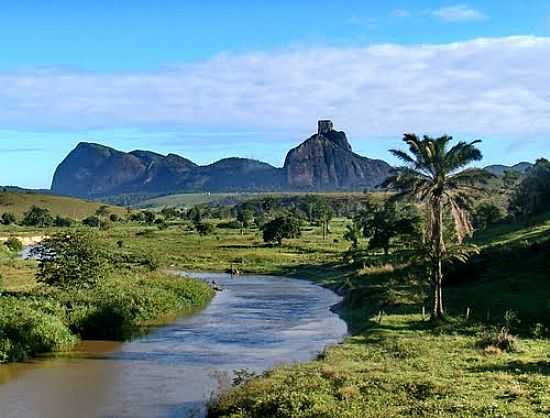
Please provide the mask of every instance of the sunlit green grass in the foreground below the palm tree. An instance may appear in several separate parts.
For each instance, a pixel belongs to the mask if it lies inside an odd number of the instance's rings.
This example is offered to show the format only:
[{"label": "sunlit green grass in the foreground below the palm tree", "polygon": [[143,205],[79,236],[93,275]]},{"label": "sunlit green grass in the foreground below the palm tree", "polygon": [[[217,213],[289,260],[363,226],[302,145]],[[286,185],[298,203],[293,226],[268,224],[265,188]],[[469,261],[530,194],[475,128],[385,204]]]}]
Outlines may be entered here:
[{"label": "sunlit green grass in the foreground below the palm tree", "polygon": [[389,315],[321,359],[220,397],[212,417],[536,417],[550,414],[548,340],[487,354],[477,330]]}]

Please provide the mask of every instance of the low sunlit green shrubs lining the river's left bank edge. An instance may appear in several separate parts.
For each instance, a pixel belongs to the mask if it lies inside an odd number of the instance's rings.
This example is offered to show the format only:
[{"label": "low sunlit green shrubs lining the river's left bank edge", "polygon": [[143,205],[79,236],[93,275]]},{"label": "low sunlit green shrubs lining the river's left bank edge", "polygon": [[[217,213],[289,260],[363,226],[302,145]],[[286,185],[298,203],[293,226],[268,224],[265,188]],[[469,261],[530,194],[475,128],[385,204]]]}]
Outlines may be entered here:
[{"label": "low sunlit green shrubs lining the river's left bank edge", "polygon": [[40,287],[0,297],[0,363],[64,350],[78,338],[122,340],[213,296],[205,282],[149,273],[93,289]]}]

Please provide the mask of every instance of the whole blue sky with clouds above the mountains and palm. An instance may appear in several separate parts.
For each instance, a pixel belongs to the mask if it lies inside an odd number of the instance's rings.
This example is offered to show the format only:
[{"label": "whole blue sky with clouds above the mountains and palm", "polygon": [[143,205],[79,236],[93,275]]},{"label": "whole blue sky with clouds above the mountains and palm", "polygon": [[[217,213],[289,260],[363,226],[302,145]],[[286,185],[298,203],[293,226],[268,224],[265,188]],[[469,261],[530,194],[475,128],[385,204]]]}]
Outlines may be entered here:
[{"label": "whole blue sky with clouds above the mountains and palm", "polygon": [[390,163],[405,132],[550,157],[546,0],[18,0],[0,51],[3,185],[80,141],[281,166],[318,119]]}]

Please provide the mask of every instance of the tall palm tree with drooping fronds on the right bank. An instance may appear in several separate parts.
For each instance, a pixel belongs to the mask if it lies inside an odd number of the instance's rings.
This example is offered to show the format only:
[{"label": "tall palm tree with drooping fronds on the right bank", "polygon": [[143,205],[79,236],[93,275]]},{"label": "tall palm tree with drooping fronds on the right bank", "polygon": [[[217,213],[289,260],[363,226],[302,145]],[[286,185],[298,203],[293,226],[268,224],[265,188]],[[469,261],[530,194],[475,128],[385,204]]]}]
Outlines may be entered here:
[{"label": "tall palm tree with drooping fronds on the right bank", "polygon": [[457,240],[462,243],[473,230],[469,217],[472,192],[479,190],[476,185],[491,175],[483,170],[465,169],[483,158],[476,147],[481,142],[479,140],[458,142],[450,147],[452,137],[449,136],[424,136],[421,139],[414,134],[405,134],[403,141],[409,146],[409,152],[390,152],[404,166],[398,168],[383,186],[397,190],[395,198],[412,197],[426,208],[426,241],[433,287],[432,317],[441,319],[444,316],[442,265],[447,255],[443,235],[444,212],[451,213]]}]

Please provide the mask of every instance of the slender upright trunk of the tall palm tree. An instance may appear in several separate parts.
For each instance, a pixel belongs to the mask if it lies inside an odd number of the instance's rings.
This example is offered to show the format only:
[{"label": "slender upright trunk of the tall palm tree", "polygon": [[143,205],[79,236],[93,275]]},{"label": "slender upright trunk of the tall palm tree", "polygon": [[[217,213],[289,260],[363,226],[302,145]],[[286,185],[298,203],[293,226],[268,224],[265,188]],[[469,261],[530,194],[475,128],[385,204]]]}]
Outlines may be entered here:
[{"label": "slender upright trunk of the tall palm tree", "polygon": [[434,289],[433,319],[442,319],[443,310],[443,211],[441,198],[436,197],[433,202],[432,216],[432,245],[433,245],[433,266],[432,281]]}]

